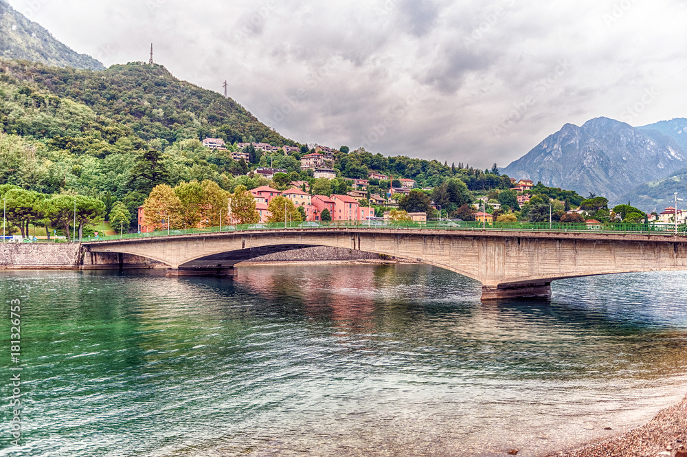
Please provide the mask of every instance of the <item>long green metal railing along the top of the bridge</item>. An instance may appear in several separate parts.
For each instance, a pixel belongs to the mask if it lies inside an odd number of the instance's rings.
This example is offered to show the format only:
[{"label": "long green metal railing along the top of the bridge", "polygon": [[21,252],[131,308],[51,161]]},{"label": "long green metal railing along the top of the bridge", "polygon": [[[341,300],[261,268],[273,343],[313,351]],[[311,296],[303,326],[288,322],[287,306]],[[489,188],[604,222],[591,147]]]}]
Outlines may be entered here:
[{"label": "long green metal railing along the top of the bridge", "polygon": [[[256,232],[264,230],[320,230],[320,229],[390,229],[390,230],[464,230],[488,232],[555,232],[555,233],[607,233],[607,234],[651,234],[675,235],[674,225],[613,224],[613,223],[548,223],[548,222],[455,222],[455,221],[322,221],[256,223],[245,225],[223,225],[222,227],[170,228],[148,233],[131,233],[111,236],[83,238],[83,241],[110,241],[157,236],[206,234],[218,232]],[[677,226],[678,236],[687,236],[687,225]]]}]

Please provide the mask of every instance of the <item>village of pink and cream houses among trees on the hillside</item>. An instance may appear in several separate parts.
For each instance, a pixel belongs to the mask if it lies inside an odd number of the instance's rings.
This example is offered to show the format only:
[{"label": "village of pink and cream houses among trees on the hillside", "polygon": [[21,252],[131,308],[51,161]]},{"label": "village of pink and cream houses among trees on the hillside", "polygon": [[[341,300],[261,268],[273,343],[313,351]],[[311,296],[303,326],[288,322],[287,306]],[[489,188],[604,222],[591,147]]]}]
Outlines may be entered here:
[{"label": "village of pink and cream houses among trees on the hillside", "polygon": [[[207,137],[202,142],[205,148],[226,153],[232,159],[240,162],[246,168],[245,177],[252,179],[255,186],[246,188],[247,194],[257,214],[254,223],[268,223],[278,220],[293,220],[297,212],[297,221],[319,223],[321,221],[370,221],[385,219],[395,221],[428,221],[453,220],[477,221],[483,223],[516,222],[516,221],[556,221],[570,223],[601,224],[608,222],[652,222],[652,223],[684,223],[682,211],[666,208],[661,214],[644,214],[628,205],[619,205],[609,210],[607,199],[590,195],[583,199],[572,192],[567,199],[560,199],[558,195],[549,196],[552,191],[538,183],[537,186],[530,179],[515,179],[500,176],[494,164],[492,170],[485,170],[486,174],[499,177],[498,187],[491,189],[464,192],[463,201],[451,201],[446,198],[445,187],[418,187],[415,179],[401,175],[386,175],[378,170],[368,170],[367,179],[348,177],[341,172],[337,157],[341,150],[327,146],[273,146],[267,143],[251,142],[227,145],[221,138]],[[342,146],[346,151],[346,146]],[[273,161],[274,155],[282,155],[297,159],[300,171],[289,171],[286,168],[273,168],[251,164],[251,158],[262,153]],[[359,151],[354,151],[354,153]],[[257,180],[254,178],[258,178]],[[326,181],[326,182],[325,182]],[[463,184],[464,186],[464,184]],[[334,192],[324,192],[332,189]],[[561,189],[555,192],[565,191]],[[570,198],[572,197],[572,198]],[[229,196],[229,200],[232,197]],[[280,212],[280,219],[275,218],[270,203],[275,199],[286,199],[284,207],[289,208]],[[461,203],[457,205],[457,203]],[[229,210],[219,223],[242,223],[240,216]],[[627,207],[627,208],[620,208]],[[443,207],[443,208],[442,208]],[[617,210],[616,210],[617,209]],[[281,208],[280,208],[281,210]],[[137,208],[137,230],[151,232],[164,227],[151,223],[159,216],[146,218],[146,205]],[[202,227],[210,223],[211,218],[203,218],[198,222]],[[134,228],[134,227],[132,227]]]}]

